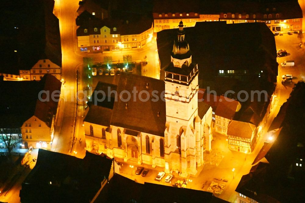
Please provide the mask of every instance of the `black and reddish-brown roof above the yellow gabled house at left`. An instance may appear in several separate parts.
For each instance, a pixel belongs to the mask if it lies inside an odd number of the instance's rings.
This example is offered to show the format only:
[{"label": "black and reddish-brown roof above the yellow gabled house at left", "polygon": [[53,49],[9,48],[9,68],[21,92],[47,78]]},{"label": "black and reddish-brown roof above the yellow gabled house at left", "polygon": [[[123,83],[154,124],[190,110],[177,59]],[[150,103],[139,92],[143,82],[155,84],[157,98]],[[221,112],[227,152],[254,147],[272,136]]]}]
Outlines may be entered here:
[{"label": "black and reddish-brown roof above the yellow gabled house at left", "polygon": [[[40,81],[0,81],[0,126],[20,128],[27,119],[37,116],[50,127],[58,105],[51,94],[60,91],[60,88],[61,82],[50,74]],[[40,91],[50,92],[49,101],[38,99]],[[41,94],[43,99],[44,96]]]}]

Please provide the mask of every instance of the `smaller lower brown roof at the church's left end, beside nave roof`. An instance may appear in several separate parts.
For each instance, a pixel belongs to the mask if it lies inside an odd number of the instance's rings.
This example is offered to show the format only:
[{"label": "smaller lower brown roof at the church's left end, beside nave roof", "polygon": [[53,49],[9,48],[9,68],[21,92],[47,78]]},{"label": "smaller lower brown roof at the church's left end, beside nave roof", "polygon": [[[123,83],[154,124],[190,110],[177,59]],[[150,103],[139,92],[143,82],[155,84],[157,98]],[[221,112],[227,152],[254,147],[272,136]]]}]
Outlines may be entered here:
[{"label": "smaller lower brown roof at the church's left end, beside nave roof", "polygon": [[94,123],[101,126],[109,126],[112,116],[112,109],[102,106],[91,105],[84,119],[84,122]]}]

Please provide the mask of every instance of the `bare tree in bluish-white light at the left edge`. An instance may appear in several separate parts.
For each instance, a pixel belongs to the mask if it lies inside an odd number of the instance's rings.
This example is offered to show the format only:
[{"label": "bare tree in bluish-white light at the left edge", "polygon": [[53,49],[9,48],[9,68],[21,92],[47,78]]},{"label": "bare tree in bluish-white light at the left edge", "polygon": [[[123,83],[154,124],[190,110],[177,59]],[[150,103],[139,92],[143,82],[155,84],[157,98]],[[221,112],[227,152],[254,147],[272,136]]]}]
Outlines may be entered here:
[{"label": "bare tree in bluish-white light at the left edge", "polygon": [[13,148],[16,148],[16,145],[20,142],[19,134],[16,133],[15,129],[0,128],[0,141],[4,142],[10,155]]}]

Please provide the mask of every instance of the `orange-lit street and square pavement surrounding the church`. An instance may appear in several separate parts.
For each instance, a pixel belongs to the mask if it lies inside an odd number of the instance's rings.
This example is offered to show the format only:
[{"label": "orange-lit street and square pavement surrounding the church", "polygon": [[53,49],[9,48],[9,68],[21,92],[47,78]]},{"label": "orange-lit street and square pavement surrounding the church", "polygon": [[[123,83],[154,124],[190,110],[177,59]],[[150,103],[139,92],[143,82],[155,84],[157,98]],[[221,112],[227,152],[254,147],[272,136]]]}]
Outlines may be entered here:
[{"label": "orange-lit street and square pavement surrounding the church", "polygon": [[[54,137],[54,142],[52,150],[56,152],[61,152],[65,154],[70,154],[83,158],[85,155],[85,137],[84,137],[84,128],[82,126],[83,120],[83,107],[80,105],[77,115],[76,123],[76,132],[75,136],[78,141],[74,141],[74,147],[71,149],[73,134],[74,134],[74,119],[76,112],[76,100],[71,101],[70,90],[75,92],[76,90],[76,70],[82,69],[83,57],[92,57],[94,62],[103,61],[103,57],[106,55],[111,55],[113,61],[118,61],[123,59],[124,54],[131,54],[134,61],[141,61],[145,56],[149,60],[149,63],[146,65],[146,71],[142,69],[142,75],[149,77],[158,78],[157,69],[159,67],[157,60],[157,46],[155,38],[153,38],[152,43],[146,46],[145,49],[140,49],[135,52],[120,51],[116,53],[105,53],[105,54],[84,54],[80,53],[77,50],[77,37],[76,37],[76,25],[75,18],[77,16],[76,10],[78,9],[78,0],[75,1],[59,1],[55,0],[54,13],[59,19],[60,34],[62,40],[62,54],[63,54],[63,63],[62,63],[62,73],[63,79],[66,81],[62,88],[62,99],[60,101],[59,108],[59,119],[56,124],[56,132]],[[304,1],[299,1],[300,6],[304,10],[305,3]],[[303,26],[305,21],[303,19]],[[283,74],[292,74],[296,78],[293,78],[292,84],[282,85],[280,78],[278,78],[277,87],[275,93],[276,97],[276,106],[272,109],[271,114],[268,118],[265,128],[263,129],[262,137],[257,141],[257,145],[253,153],[245,155],[244,153],[230,151],[228,149],[227,137],[217,133],[213,133],[214,140],[212,141],[212,152],[210,154],[205,154],[205,167],[199,168],[202,169],[201,173],[195,177],[188,177],[187,179],[192,179],[192,183],[187,185],[187,188],[192,187],[196,190],[207,191],[210,183],[212,181],[217,183],[226,184],[224,191],[221,194],[214,194],[215,196],[222,198],[224,200],[234,202],[236,200],[235,188],[241,179],[241,176],[249,173],[251,168],[251,163],[256,157],[257,153],[260,151],[261,147],[264,144],[264,141],[268,139],[271,135],[266,133],[267,128],[270,126],[272,120],[277,115],[280,106],[286,99],[289,97],[292,87],[297,81],[305,79],[305,62],[303,60],[303,55],[305,53],[305,48],[300,48],[297,44],[300,42],[300,39],[297,38],[296,34],[283,36],[276,36],[276,48],[285,49],[289,55],[278,58],[278,63],[283,62],[284,60],[294,60],[296,66],[293,68],[282,68],[279,67],[278,75]],[[81,78],[81,77],[80,77]],[[80,83],[82,84],[82,83]],[[82,87],[79,87],[82,89]],[[66,101],[63,98],[67,98]],[[80,142],[80,139],[82,140]],[[209,162],[207,162],[209,161]],[[149,166],[143,164],[145,168],[149,168],[149,174],[146,177],[141,175],[135,175],[136,165],[134,168],[129,166],[130,163],[124,163],[120,174],[128,178],[136,180],[137,182],[144,183],[157,183],[163,185],[172,185],[176,180],[182,180],[182,178],[174,177],[171,180],[171,183],[166,183],[165,177],[161,181],[154,180],[159,171],[163,171],[163,168],[156,167],[151,169]],[[232,169],[235,169],[232,171]],[[133,170],[133,171],[132,171]],[[234,179],[233,179],[234,173]],[[132,175],[131,175],[132,174]],[[19,199],[19,190],[21,189],[21,183],[26,177],[27,174],[22,174],[23,178],[20,178],[18,182],[11,188],[9,193],[4,197],[0,196],[0,201],[8,202],[20,202]],[[216,180],[218,179],[218,180]],[[224,182],[223,180],[228,180]],[[203,185],[203,183],[205,183]],[[34,198],[34,197],[33,197]]]}]

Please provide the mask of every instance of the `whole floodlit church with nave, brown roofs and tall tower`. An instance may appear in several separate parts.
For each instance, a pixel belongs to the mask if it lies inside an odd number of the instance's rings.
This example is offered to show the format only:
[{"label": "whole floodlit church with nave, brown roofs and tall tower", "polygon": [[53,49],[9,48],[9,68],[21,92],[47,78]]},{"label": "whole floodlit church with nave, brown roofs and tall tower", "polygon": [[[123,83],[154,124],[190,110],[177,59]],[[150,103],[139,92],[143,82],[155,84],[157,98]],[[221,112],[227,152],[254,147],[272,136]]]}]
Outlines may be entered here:
[{"label": "whole floodlit church with nave, brown roofs and tall tower", "polygon": [[88,151],[181,177],[197,173],[210,151],[212,108],[198,101],[198,66],[183,27],[181,21],[164,81],[122,73],[117,85],[98,83],[84,118]]}]

